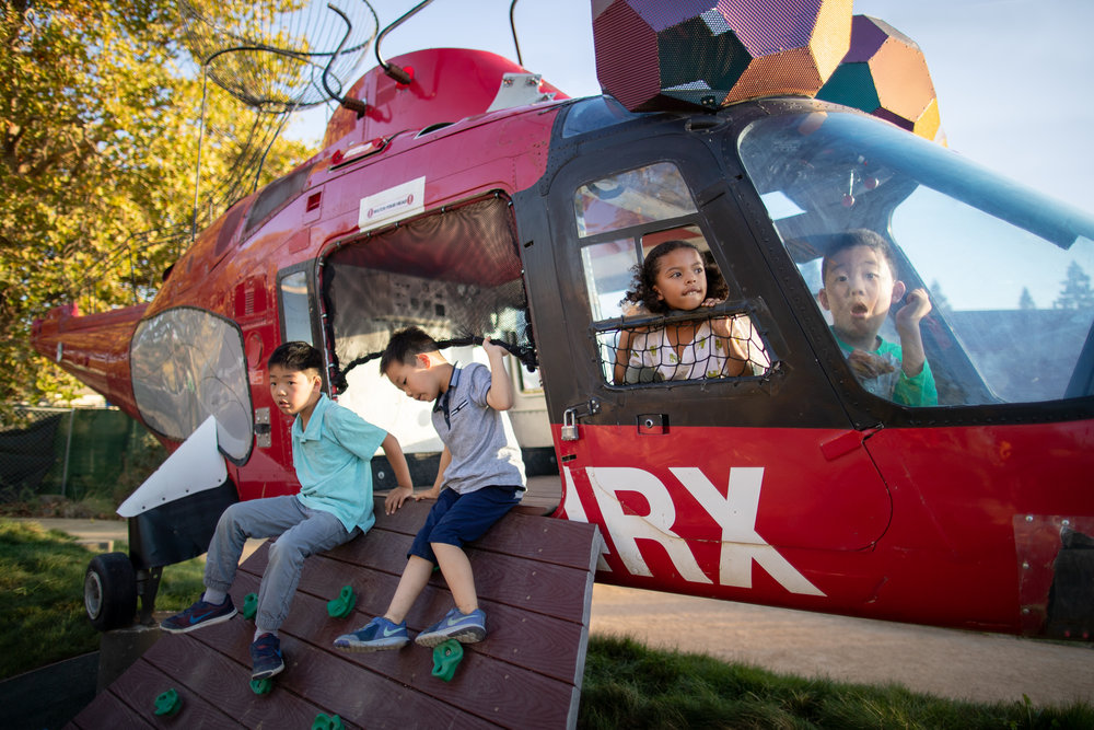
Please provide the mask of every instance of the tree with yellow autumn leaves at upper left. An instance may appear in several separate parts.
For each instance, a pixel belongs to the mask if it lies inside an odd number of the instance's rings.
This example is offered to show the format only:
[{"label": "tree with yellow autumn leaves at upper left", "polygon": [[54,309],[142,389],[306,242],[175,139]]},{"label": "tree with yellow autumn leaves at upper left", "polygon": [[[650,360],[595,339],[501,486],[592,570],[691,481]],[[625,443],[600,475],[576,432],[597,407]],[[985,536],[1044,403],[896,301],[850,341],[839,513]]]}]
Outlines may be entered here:
[{"label": "tree with yellow autumn leaves at upper left", "polygon": [[[256,113],[212,88],[202,127],[183,36],[168,0],[0,0],[0,408],[75,386],[32,350],[36,316],[154,292],[189,243],[199,138],[199,197],[221,206],[203,219],[230,202],[218,186]],[[256,184],[310,153],[277,140]]]}]

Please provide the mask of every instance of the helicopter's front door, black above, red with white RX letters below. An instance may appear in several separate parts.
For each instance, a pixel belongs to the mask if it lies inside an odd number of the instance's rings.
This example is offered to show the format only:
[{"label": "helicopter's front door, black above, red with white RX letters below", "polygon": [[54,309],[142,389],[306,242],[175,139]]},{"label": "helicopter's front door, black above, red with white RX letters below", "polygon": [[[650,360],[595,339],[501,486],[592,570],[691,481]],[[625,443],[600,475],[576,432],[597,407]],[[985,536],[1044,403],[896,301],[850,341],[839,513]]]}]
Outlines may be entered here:
[{"label": "helicopter's front door, black above, red with white RX letters below", "polygon": [[[549,194],[565,317],[536,324],[570,348],[568,369],[545,368],[566,515],[604,525],[608,582],[816,595],[798,566],[810,551],[869,549],[889,523],[885,485],[831,391],[800,397],[812,371],[796,367],[793,320],[766,303],[778,283],[750,263],[741,221],[697,204],[694,190],[721,184],[709,151],[666,135],[620,169],[621,151],[605,147],[562,166]],[[689,278],[707,279],[707,305],[628,297],[636,267],[671,241],[701,263]]]}]

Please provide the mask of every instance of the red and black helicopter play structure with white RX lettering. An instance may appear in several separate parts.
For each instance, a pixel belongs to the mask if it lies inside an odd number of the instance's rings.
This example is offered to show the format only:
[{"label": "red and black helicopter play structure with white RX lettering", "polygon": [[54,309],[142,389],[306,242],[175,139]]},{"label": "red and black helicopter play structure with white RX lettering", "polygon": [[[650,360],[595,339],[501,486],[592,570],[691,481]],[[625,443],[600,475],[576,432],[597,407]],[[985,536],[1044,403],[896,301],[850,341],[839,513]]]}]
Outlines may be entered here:
[{"label": "red and black helicopter play structure with white RX lettering", "polygon": [[[203,553],[226,505],[299,488],[267,385],[282,341],[321,348],[330,394],[396,433],[431,482],[429,405],[373,360],[416,324],[452,341],[451,359],[476,357],[472,335],[510,345],[535,503],[598,525],[597,580],[1090,639],[1094,301],[1078,283],[1094,218],[934,131],[822,101],[834,65],[812,89],[724,44],[673,66],[680,28],[725,32],[594,5],[610,94],[569,99],[485,51],[393,58],[340,100],[324,150],[202,231],[150,304],[36,324],[42,355],[171,450],[186,442],[176,454],[193,449],[161,468],[162,494],[135,495],[130,555],[93,561],[93,623],[129,621],[138,582],[150,612],[163,566]],[[660,61],[619,60],[651,37]],[[649,91],[639,72],[659,62]],[[665,81],[734,63],[731,82]],[[755,73],[778,83],[747,86]],[[904,290],[930,299],[936,403],[872,387],[834,336],[824,262],[861,230],[892,247]],[[677,240],[728,293],[701,314],[621,306],[632,268]],[[906,303],[880,337],[898,339]],[[747,327],[740,374],[619,375],[624,333],[717,318]],[[195,477],[198,462],[210,476]],[[394,485],[381,457],[374,468],[377,488]]]}]

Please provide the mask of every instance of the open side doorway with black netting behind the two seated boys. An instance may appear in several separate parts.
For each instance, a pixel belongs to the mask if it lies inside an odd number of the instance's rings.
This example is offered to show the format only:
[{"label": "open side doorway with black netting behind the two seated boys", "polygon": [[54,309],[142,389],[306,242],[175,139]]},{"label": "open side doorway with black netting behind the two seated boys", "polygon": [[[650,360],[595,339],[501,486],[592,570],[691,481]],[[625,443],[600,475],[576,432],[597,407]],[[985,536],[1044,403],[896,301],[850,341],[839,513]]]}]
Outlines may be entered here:
[{"label": "open side doorway with black netting behind the two seated boys", "polygon": [[[416,486],[430,486],[443,448],[430,422],[432,403],[418,403],[380,372],[391,334],[424,329],[453,363],[487,364],[470,337],[504,341],[534,364],[535,343],[521,276],[515,223],[500,195],[446,207],[396,228],[344,242],[321,262],[331,390],[338,402],[394,433]],[[504,358],[516,393],[507,412],[528,476],[526,505],[552,511],[560,487],[538,371]],[[374,464],[382,462],[382,456]],[[395,486],[376,471],[377,488]]]}]

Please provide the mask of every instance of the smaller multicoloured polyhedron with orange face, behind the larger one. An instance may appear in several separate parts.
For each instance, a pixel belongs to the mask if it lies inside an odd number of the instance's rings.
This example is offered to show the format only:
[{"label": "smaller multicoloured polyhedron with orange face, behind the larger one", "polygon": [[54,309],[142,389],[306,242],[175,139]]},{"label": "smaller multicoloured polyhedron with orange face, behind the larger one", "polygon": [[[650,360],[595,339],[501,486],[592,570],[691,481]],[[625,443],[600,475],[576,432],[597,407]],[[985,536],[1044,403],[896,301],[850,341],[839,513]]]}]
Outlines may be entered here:
[{"label": "smaller multicoloured polyhedron with orange face, behind the larger one", "polygon": [[851,48],[817,99],[853,106],[930,140],[940,137],[939,102],[923,51],[876,18],[851,20]]}]

